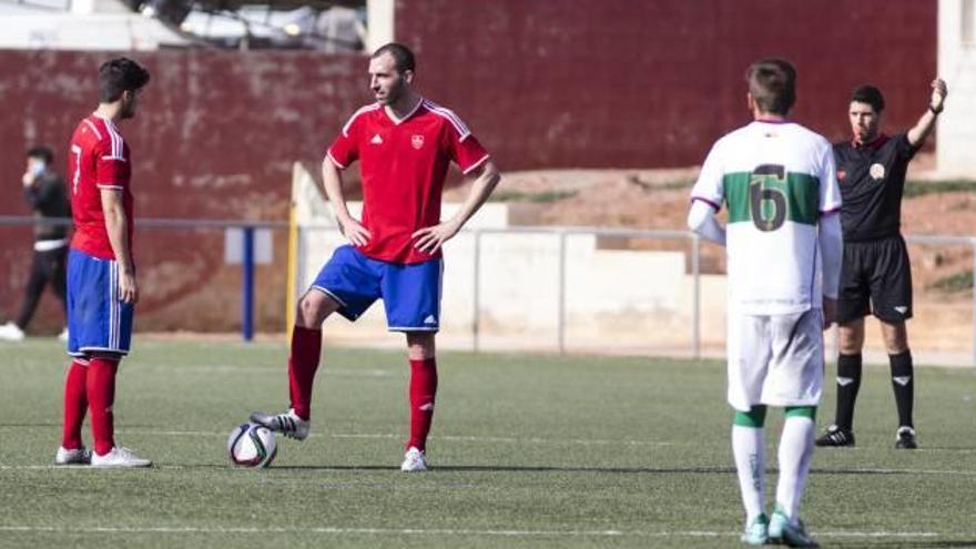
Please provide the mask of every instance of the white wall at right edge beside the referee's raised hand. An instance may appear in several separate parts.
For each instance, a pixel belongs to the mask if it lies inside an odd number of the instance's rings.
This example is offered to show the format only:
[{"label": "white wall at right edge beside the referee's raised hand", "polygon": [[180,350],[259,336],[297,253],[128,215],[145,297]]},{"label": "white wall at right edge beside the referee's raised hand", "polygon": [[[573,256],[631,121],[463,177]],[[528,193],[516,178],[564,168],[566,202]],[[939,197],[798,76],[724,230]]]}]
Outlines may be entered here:
[{"label": "white wall at right edge beside the referee's raised hand", "polygon": [[[968,10],[964,4],[968,3]],[[948,82],[946,111],[939,116],[937,169],[944,176],[976,176],[976,2],[939,0],[938,73]],[[968,20],[968,21],[967,21]],[[969,37],[963,29],[968,26]]]}]

